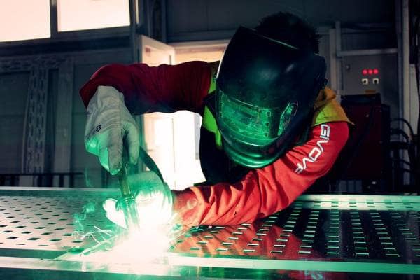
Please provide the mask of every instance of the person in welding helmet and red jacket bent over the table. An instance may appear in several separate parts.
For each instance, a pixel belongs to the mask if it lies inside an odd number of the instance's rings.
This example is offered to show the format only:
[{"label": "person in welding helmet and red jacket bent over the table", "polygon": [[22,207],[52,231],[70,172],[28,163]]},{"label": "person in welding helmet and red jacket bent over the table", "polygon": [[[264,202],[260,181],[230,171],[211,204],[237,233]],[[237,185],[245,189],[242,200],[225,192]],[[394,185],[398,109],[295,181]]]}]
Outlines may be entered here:
[{"label": "person in welding helmet and red jacket bent over the table", "polygon": [[288,207],[334,164],[349,120],[325,87],[319,35],[290,13],[239,27],[221,62],[103,66],[80,90],[87,151],[111,174],[139,158],[132,117],[188,110],[203,117],[207,181],[173,191],[184,225],[253,222]]}]

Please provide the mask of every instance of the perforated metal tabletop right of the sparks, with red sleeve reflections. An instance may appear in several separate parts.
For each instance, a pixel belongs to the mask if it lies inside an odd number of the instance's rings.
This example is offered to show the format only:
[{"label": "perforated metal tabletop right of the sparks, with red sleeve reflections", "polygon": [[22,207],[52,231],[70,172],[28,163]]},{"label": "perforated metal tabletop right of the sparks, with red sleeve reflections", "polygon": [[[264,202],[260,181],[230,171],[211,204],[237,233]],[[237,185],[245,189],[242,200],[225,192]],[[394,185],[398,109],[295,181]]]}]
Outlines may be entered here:
[{"label": "perforated metal tabletop right of the sparks, with red sleeve reflections", "polygon": [[[391,210],[384,210],[387,207]],[[260,222],[203,230],[175,250],[279,260],[420,264],[420,212],[414,208],[418,205],[408,202],[297,201]]]}]

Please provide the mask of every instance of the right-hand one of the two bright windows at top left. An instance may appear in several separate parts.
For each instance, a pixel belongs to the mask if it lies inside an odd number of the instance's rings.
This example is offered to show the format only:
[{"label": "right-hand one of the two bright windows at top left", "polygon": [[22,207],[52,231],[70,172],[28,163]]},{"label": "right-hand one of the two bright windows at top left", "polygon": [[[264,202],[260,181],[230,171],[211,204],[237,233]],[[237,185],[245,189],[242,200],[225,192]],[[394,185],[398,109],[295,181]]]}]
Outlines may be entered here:
[{"label": "right-hand one of the two bright windows at top left", "polygon": [[128,0],[57,0],[58,31],[130,25]]}]

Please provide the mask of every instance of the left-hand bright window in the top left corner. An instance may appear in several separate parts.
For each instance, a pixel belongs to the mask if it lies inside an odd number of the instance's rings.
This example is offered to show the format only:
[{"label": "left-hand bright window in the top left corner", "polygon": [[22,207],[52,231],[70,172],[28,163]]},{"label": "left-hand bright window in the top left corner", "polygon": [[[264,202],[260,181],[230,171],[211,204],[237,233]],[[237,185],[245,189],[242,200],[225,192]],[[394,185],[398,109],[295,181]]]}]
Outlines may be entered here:
[{"label": "left-hand bright window in the top left corner", "polygon": [[50,37],[50,1],[0,0],[0,41]]}]

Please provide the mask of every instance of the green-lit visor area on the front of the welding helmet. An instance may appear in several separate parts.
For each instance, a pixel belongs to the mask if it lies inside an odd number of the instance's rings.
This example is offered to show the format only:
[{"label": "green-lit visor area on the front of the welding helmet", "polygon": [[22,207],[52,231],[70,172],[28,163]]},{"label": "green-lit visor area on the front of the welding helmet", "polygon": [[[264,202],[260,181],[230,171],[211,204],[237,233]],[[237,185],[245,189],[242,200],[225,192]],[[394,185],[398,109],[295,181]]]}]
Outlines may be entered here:
[{"label": "green-lit visor area on the front of the welding helmet", "polygon": [[[297,111],[297,103],[263,108],[217,91],[218,120],[235,138],[253,146],[267,146],[278,139]],[[222,128],[222,129],[223,129]],[[255,147],[256,148],[256,147]]]}]

